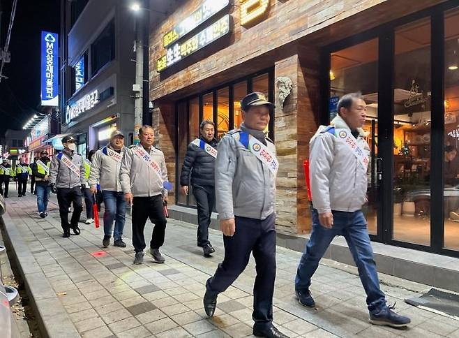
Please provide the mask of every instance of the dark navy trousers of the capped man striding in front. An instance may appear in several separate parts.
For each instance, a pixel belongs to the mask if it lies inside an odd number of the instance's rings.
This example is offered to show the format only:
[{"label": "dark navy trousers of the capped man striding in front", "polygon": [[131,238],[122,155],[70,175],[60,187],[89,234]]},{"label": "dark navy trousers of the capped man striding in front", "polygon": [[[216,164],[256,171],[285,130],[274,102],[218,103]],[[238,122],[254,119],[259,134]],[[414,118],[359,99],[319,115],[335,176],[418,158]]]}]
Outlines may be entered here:
[{"label": "dark navy trousers of the capped man striding in front", "polygon": [[225,291],[243,272],[250,253],[255,258],[257,277],[253,286],[254,328],[269,328],[273,321],[273,293],[276,279],[276,214],[266,219],[236,216],[236,232],[223,236],[225,258],[217,267],[206,289],[217,295]]}]

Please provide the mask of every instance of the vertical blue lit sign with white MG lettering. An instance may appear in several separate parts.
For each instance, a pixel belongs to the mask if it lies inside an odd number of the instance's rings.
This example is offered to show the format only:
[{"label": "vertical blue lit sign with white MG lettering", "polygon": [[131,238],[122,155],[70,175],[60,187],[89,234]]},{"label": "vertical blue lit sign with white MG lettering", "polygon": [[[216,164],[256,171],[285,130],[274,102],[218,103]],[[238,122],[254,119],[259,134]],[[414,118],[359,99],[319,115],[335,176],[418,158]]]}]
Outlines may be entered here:
[{"label": "vertical blue lit sign with white MG lettering", "polygon": [[41,105],[59,106],[59,36],[41,32]]}]

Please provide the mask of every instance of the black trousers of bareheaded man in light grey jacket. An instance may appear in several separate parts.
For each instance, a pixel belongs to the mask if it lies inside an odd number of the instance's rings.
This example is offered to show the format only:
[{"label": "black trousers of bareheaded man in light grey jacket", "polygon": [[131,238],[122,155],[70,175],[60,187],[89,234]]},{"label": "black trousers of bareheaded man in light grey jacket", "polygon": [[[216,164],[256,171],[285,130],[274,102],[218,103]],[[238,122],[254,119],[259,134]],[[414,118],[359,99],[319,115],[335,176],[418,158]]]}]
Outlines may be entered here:
[{"label": "black trousers of bareheaded man in light grey jacket", "polygon": [[166,217],[163,208],[163,196],[135,197],[133,199],[133,246],[135,252],[144,251],[144,229],[146,219],[155,224],[151,234],[150,248],[159,249],[164,244]]}]

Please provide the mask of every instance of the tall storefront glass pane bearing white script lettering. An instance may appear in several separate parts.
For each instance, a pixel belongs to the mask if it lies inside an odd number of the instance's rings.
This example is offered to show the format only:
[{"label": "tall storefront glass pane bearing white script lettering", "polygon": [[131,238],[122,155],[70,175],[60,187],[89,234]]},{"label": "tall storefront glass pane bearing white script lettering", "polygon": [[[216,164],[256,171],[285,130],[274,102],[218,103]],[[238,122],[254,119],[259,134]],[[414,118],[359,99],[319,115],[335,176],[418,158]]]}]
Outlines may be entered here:
[{"label": "tall storefront glass pane bearing white script lettering", "polygon": [[429,18],[396,29],[395,54],[393,239],[430,245]]}]

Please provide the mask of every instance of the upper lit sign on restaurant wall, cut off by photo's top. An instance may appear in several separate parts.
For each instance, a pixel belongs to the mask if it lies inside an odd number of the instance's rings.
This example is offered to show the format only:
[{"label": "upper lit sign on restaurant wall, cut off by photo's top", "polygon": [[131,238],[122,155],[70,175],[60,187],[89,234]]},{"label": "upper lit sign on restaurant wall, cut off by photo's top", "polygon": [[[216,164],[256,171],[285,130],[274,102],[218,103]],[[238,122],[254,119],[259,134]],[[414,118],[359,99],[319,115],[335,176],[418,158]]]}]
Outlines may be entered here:
[{"label": "upper lit sign on restaurant wall, cut off by photo's top", "polygon": [[193,14],[183,20],[180,24],[176,25],[171,31],[168,31],[163,38],[163,45],[167,47],[175,41],[179,40],[182,36],[190,33],[196,27],[198,27],[202,22],[209,19],[209,17],[215,15],[216,13],[223,10],[228,6],[230,0],[207,0],[205,1],[200,8],[197,8]]}]

